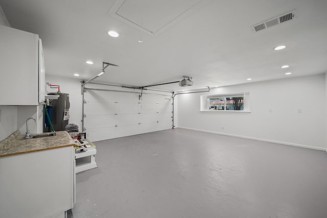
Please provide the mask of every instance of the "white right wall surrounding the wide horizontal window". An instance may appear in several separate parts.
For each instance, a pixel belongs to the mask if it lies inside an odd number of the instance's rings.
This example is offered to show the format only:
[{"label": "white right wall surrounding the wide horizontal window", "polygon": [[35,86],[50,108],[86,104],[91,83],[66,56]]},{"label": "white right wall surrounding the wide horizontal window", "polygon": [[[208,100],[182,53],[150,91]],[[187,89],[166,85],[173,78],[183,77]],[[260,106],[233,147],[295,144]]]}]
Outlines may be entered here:
[{"label": "white right wall surrounding the wide horizontal window", "polygon": [[[321,74],[177,95],[178,127],[325,150],[325,86]],[[251,113],[200,112],[200,95],[240,92],[250,92]]]}]

